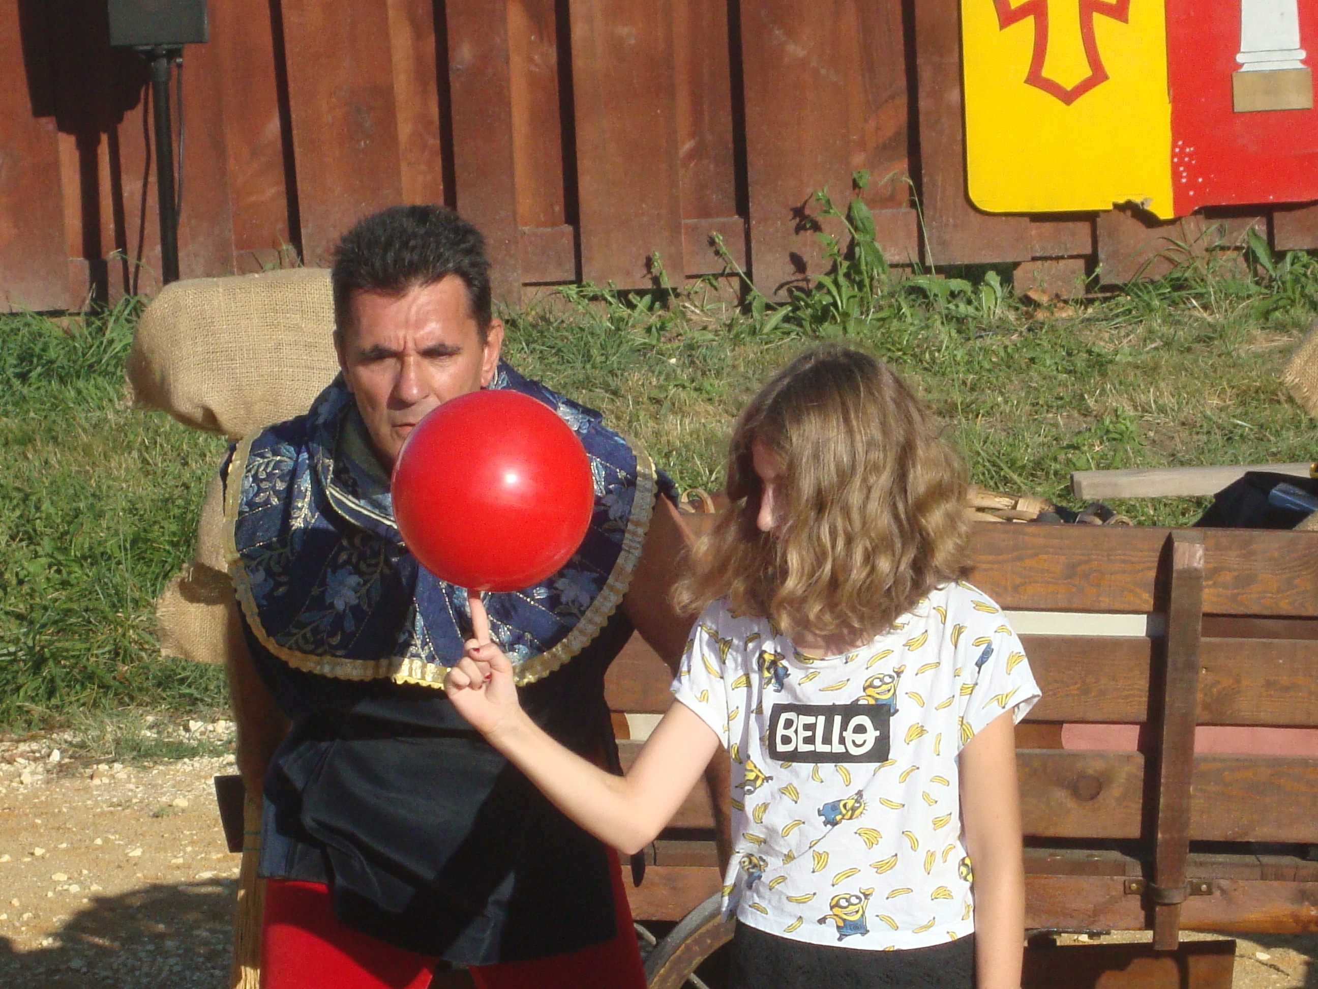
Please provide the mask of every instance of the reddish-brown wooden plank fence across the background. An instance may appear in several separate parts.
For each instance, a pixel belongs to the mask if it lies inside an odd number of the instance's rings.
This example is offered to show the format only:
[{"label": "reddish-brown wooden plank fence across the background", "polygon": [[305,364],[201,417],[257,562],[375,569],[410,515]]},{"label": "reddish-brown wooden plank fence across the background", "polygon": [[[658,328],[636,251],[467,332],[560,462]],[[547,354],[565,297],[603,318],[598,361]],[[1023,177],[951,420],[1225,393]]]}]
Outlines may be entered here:
[{"label": "reddish-brown wooden plank fence across the background", "polygon": [[[497,290],[817,273],[811,193],[866,199],[894,262],[1019,262],[1065,289],[1133,277],[1168,237],[1265,225],[1318,247],[1318,206],[1172,224],[992,216],[966,199],[957,0],[210,0],[183,78],[183,277],[323,264],[356,218],[447,202]],[[157,286],[145,67],[104,0],[0,0],[0,307]],[[917,214],[919,202],[923,214]],[[919,219],[923,216],[923,224]],[[1157,265],[1149,270],[1156,270]]]}]

